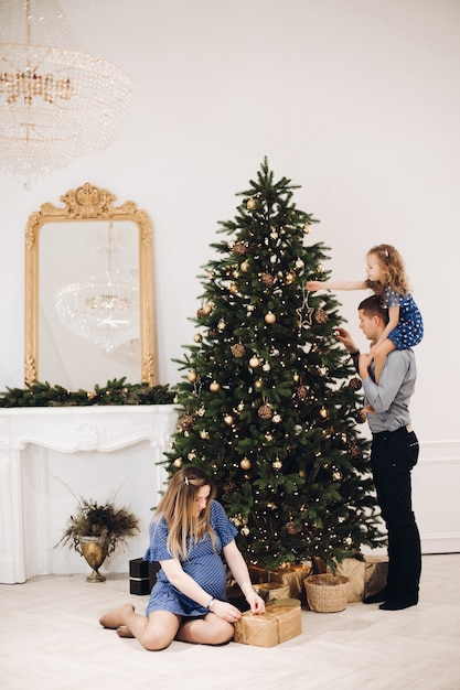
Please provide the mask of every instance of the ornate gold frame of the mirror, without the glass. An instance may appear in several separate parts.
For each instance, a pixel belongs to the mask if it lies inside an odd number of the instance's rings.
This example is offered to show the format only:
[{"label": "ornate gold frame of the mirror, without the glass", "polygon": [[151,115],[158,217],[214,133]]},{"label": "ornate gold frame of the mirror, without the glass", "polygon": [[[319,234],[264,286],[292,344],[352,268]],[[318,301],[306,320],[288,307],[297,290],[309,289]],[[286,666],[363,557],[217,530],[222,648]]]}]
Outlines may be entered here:
[{"label": "ornate gold frame of the mirror, without the glass", "polygon": [[[39,247],[40,229],[49,223],[75,220],[131,220],[139,228],[139,312],[140,312],[140,378],[142,384],[157,385],[154,356],[153,299],[153,230],[148,214],[127,201],[114,206],[117,197],[89,182],[69,190],[60,197],[64,207],[42,204],[29,216],[25,228],[25,328],[24,380],[39,380]],[[56,384],[58,381],[54,381]],[[137,381],[128,381],[137,382]]]}]

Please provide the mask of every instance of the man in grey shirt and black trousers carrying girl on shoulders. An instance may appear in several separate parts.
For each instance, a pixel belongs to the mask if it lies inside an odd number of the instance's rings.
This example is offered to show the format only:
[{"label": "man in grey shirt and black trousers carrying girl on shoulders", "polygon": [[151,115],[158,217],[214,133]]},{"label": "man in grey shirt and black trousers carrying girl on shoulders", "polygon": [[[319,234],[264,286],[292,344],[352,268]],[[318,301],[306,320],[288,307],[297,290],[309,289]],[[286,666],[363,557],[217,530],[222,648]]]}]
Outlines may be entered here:
[{"label": "man in grey shirt and black trousers carrying girl on shoulders", "polygon": [[[360,328],[371,344],[388,322],[379,298],[372,295],[359,305]],[[363,381],[365,403],[372,410],[371,466],[377,500],[388,532],[388,576],[385,587],[364,599],[365,604],[382,602],[379,608],[398,611],[418,603],[421,572],[420,536],[411,506],[410,472],[418,460],[418,440],[410,425],[409,401],[417,369],[411,349],[392,352],[384,364],[378,385],[368,354],[361,354],[350,333],[339,328],[338,338],[353,357]]]}]

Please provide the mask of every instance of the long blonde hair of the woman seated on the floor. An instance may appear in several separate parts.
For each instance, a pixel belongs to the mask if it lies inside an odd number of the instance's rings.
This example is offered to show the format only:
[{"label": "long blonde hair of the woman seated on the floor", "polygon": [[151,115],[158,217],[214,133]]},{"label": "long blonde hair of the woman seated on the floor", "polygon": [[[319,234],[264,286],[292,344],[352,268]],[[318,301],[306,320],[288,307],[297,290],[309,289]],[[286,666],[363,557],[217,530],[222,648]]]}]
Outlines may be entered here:
[{"label": "long blonde hair of the woman seated on the floor", "polygon": [[[206,507],[197,515],[196,496],[202,486],[210,486],[211,493]],[[173,558],[186,560],[190,549],[201,541],[206,533],[215,546],[215,533],[210,525],[211,502],[217,487],[203,470],[194,466],[182,467],[173,476],[161,498],[153,520],[164,517],[169,533],[167,547]],[[189,542],[188,542],[189,539]],[[188,546],[189,543],[189,546]]]}]

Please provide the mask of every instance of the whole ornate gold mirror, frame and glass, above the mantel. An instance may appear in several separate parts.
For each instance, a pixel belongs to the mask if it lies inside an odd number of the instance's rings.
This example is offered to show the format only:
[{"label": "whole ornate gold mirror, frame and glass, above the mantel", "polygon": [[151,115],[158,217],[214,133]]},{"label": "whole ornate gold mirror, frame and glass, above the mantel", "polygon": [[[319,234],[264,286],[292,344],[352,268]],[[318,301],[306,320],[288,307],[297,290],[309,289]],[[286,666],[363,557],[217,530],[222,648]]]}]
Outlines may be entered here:
[{"label": "whole ornate gold mirror, frame and glass, above the mantel", "polygon": [[156,385],[152,226],[85,183],[25,230],[25,382]]}]

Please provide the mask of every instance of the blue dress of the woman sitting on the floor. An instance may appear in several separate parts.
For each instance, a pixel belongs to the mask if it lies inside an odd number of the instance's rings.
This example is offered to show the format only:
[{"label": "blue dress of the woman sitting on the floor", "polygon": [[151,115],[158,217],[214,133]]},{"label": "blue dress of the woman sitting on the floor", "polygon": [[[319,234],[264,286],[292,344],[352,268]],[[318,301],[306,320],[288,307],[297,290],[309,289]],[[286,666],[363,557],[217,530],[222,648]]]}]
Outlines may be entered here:
[{"label": "blue dress of the woman sitting on the floor", "polygon": [[[215,599],[226,601],[227,576],[221,552],[227,543],[233,541],[238,530],[216,500],[211,503],[210,522],[216,537],[214,548],[210,535],[206,533],[202,541],[192,547],[188,560],[181,560],[181,565],[184,572],[208,592],[210,597],[215,596]],[[149,531],[150,546],[143,557],[145,560],[151,562],[170,560],[172,556],[167,549],[168,525],[165,519],[153,520]],[[174,587],[161,568],[150,594],[146,615],[153,611],[170,611],[180,616],[205,616],[208,613],[207,608],[200,606]]]}]

